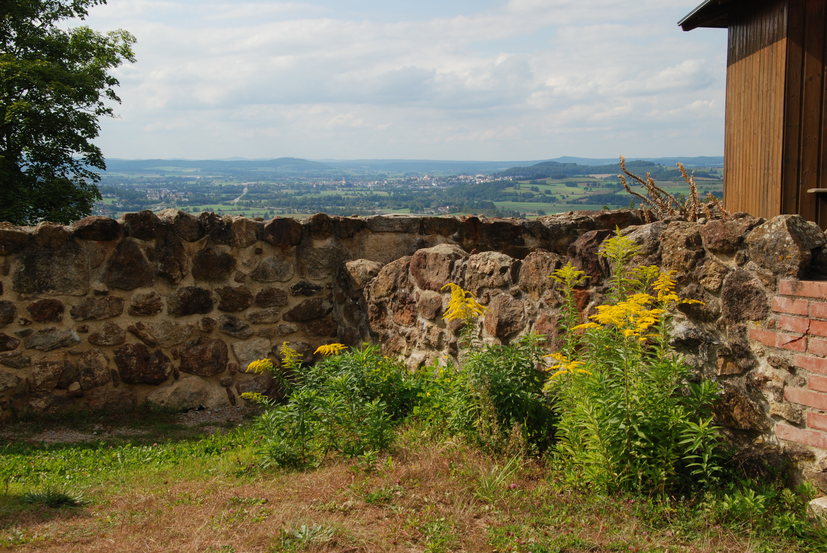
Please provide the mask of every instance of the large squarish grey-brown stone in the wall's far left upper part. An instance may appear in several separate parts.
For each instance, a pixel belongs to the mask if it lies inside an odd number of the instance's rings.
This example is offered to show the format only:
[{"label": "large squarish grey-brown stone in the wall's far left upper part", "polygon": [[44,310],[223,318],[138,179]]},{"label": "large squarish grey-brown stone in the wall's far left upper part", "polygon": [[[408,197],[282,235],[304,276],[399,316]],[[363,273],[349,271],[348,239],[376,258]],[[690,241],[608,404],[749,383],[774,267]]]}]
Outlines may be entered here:
[{"label": "large squarish grey-brown stone in the wall's far left upper part", "polygon": [[22,294],[86,295],[88,255],[74,240],[58,249],[28,243],[17,256],[12,284],[14,291]]}]

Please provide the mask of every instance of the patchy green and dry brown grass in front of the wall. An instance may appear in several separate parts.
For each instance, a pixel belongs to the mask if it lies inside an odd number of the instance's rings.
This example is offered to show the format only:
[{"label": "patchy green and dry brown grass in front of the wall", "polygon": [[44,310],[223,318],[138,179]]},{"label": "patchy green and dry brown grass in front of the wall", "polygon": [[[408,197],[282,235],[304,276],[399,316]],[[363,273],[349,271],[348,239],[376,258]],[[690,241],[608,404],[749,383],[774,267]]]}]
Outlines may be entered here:
[{"label": "patchy green and dry brown grass in front of the wall", "polygon": [[[399,428],[366,466],[264,469],[257,436],[205,436],[171,414],[125,415],[144,433],[117,442],[4,450],[0,546],[6,551],[816,551],[722,526],[699,498],[605,497],[562,484],[551,463],[505,468],[463,442]],[[27,423],[93,428],[73,419]],[[97,424],[97,423],[95,423]],[[236,426],[235,423],[232,426]],[[26,492],[84,495],[81,506],[26,503]],[[32,500],[31,497],[28,499]],[[34,499],[37,499],[36,497]]]}]

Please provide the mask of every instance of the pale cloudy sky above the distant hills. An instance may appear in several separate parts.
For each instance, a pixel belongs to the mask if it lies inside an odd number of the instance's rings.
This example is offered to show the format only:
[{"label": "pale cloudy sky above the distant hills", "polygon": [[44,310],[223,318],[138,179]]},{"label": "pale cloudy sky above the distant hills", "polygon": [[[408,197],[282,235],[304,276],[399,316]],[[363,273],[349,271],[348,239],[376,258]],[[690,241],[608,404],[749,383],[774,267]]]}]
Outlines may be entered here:
[{"label": "pale cloudy sky above the distant hills", "polygon": [[110,158],[723,155],[699,0],[109,0],[136,35]]}]

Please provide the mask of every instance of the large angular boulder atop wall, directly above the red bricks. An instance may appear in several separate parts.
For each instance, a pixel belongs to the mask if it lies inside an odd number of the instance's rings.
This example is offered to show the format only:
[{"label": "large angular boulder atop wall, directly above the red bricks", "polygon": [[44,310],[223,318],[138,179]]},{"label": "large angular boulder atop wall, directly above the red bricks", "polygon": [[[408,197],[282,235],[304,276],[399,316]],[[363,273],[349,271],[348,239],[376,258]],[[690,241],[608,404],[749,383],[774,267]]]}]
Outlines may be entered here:
[{"label": "large angular boulder atop wall, directly above the red bricks", "polygon": [[753,229],[747,237],[749,258],[777,276],[797,278],[812,259],[812,250],[827,243],[824,232],[801,218],[780,215]]}]

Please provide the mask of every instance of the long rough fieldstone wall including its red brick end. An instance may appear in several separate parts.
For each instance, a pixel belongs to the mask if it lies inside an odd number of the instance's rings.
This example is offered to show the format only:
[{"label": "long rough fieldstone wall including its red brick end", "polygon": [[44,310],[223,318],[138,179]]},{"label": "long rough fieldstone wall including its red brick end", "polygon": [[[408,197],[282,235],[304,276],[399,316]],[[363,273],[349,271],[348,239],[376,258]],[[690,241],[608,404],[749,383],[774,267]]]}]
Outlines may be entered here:
[{"label": "long rough fieldstone wall including its red brick end", "polygon": [[532,331],[553,345],[562,296],[547,276],[567,261],[586,271],[576,296],[584,315],[593,312],[609,276],[597,250],[615,229],[640,245],[634,262],[676,271],[681,297],[704,301],[676,311],[674,344],[699,376],[719,381],[716,417],[729,437],[783,449],[820,482],[827,236],[797,215],[645,224],[637,210],[533,221],[318,214],[265,223],[166,210],[0,224],[2,414],[144,401],[187,409],[235,403],[246,390],[275,394],[269,376],[245,367],[278,363],[274,348],[285,341],[308,362],[332,342],[380,343],[411,367],[444,362],[457,352],[457,328],[441,319],[447,282],[488,307],[485,341]]}]

